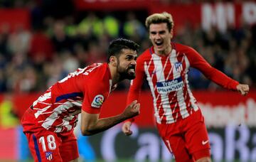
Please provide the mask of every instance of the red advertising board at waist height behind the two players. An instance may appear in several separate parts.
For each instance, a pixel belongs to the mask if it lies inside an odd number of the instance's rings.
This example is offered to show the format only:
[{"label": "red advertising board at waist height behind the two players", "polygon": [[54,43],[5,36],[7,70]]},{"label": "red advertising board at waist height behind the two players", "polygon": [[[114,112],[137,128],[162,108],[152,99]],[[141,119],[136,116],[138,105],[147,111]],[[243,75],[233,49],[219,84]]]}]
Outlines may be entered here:
[{"label": "red advertising board at waist height behind the two players", "polygon": [[[235,124],[248,124],[256,126],[256,92],[250,92],[246,97],[237,92],[193,92],[203,114],[206,117],[208,126],[225,126],[225,124],[234,122]],[[39,94],[33,95],[14,95],[12,101],[18,117],[33,103]],[[113,92],[103,104],[100,117],[110,117],[122,113],[126,107],[126,92]],[[0,95],[0,101],[10,97]],[[141,114],[136,122],[139,126],[154,125],[154,108],[151,98],[151,92],[142,92],[139,99],[141,103]],[[1,103],[0,103],[1,104]]]}]

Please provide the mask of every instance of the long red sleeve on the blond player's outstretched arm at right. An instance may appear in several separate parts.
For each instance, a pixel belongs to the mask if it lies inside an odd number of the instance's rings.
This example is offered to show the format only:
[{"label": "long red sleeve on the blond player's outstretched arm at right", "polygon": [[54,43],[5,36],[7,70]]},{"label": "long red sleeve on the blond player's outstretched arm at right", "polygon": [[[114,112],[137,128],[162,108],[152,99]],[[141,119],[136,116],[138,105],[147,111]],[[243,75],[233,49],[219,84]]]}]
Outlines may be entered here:
[{"label": "long red sleeve on the blond player's outstretched arm at right", "polygon": [[188,61],[191,67],[200,70],[209,80],[228,90],[236,90],[239,82],[231,79],[220,70],[213,68],[196,50],[188,48]]}]

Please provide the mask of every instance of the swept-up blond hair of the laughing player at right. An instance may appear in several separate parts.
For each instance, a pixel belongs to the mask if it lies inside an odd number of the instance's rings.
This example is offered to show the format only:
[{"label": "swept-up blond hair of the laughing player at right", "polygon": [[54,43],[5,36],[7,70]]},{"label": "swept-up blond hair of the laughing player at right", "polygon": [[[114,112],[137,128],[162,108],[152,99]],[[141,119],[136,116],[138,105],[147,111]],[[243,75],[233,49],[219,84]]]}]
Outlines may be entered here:
[{"label": "swept-up blond hair of the laughing player at right", "polygon": [[169,31],[174,28],[174,20],[170,13],[163,12],[163,13],[154,13],[151,14],[149,17],[146,18],[146,28],[149,30],[149,26],[152,23],[167,23],[167,27]]}]

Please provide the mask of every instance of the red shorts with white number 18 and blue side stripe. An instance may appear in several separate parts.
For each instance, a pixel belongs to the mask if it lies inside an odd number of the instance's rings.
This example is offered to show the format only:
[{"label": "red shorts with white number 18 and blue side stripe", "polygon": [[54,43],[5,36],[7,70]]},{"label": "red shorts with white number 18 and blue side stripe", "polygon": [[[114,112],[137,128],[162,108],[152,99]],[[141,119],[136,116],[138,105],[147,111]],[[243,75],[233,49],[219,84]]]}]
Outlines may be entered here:
[{"label": "red shorts with white number 18 and blue side stripe", "polygon": [[25,134],[34,161],[72,161],[79,157],[73,131],[55,133],[42,128]]}]

